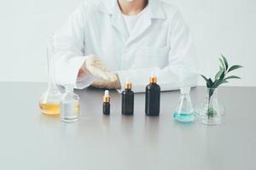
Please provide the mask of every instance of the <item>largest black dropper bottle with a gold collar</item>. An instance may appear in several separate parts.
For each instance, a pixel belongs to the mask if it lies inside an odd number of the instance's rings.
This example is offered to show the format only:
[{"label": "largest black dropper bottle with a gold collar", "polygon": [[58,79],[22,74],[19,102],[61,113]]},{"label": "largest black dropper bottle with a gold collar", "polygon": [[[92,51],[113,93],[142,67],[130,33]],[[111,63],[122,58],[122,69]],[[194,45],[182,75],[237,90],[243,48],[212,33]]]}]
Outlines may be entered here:
[{"label": "largest black dropper bottle with a gold collar", "polygon": [[153,74],[146,87],[145,113],[147,116],[159,116],[160,113],[160,86],[156,83],[157,77]]}]

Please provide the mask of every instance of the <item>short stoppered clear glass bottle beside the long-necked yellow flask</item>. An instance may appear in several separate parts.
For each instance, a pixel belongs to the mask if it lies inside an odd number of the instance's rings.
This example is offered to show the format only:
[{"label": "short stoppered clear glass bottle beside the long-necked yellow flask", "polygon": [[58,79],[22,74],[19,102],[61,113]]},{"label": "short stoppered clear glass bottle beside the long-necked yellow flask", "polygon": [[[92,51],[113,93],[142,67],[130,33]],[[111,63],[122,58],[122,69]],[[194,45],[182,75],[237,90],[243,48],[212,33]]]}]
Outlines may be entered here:
[{"label": "short stoppered clear glass bottle beside the long-necked yellow flask", "polygon": [[73,85],[65,86],[61,99],[61,121],[76,122],[79,120],[79,96],[73,93]]}]

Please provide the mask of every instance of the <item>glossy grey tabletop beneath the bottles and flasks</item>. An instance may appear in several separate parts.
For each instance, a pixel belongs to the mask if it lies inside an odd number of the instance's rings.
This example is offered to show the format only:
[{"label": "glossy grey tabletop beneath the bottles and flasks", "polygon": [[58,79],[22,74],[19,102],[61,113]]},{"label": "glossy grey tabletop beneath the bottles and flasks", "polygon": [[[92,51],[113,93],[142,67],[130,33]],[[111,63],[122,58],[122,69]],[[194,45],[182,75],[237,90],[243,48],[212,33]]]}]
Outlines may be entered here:
[{"label": "glossy grey tabletop beneath the bottles and flasks", "polygon": [[[172,119],[177,91],[161,94],[160,116],[144,114],[144,94],[135,115],[121,116],[120,95],[111,91],[111,116],[102,116],[101,89],[76,91],[79,122],[45,116],[38,99],[45,83],[0,82],[0,169],[256,169],[256,88],[220,88],[222,124]],[[193,103],[205,88],[191,90]]]}]

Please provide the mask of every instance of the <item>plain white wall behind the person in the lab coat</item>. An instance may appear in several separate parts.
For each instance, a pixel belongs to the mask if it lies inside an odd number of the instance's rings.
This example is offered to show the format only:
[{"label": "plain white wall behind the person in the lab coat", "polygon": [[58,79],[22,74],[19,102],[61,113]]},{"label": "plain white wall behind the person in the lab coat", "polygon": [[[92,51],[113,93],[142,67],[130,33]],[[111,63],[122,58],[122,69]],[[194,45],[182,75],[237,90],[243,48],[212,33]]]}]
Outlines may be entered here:
[{"label": "plain white wall behind the person in the lab coat", "polygon": [[[45,82],[45,40],[83,0],[1,0],[0,81]],[[168,1],[168,0],[166,0]],[[256,86],[256,1],[172,0],[192,31],[201,72],[212,76],[218,56],[243,79],[232,86]],[[201,81],[200,84],[203,82]]]}]

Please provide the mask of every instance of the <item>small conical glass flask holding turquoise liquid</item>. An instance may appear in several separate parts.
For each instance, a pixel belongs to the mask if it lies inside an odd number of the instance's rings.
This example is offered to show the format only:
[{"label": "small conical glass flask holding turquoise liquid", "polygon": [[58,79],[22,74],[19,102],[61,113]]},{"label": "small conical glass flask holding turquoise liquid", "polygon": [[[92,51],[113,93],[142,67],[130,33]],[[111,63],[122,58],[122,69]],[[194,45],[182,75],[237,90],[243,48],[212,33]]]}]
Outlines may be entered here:
[{"label": "small conical glass flask holding turquoise liquid", "polygon": [[180,99],[177,110],[173,117],[178,122],[193,122],[195,120],[195,111],[190,99],[190,88],[180,88]]}]

